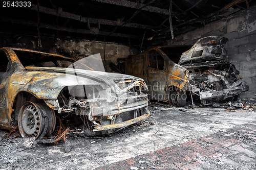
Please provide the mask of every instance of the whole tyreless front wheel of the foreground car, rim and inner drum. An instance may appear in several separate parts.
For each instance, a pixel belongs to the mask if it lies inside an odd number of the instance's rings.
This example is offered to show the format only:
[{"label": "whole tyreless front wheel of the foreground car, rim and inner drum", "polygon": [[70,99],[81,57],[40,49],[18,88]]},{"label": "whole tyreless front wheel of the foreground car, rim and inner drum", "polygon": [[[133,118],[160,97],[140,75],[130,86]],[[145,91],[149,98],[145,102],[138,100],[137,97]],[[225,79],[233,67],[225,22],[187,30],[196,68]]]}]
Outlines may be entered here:
[{"label": "whole tyreless front wheel of the foreground car, rim and inner drum", "polygon": [[18,128],[22,137],[41,139],[54,131],[55,123],[54,111],[45,104],[25,102],[19,109]]}]

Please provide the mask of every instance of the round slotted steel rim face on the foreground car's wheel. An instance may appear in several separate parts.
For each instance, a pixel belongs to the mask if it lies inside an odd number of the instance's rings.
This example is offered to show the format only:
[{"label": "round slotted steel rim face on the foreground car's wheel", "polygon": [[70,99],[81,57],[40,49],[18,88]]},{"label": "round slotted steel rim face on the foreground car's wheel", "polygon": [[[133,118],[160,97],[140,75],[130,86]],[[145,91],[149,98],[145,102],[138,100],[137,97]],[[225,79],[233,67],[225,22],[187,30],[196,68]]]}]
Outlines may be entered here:
[{"label": "round slotted steel rim face on the foreground car's wheel", "polygon": [[19,110],[18,126],[22,137],[33,136],[38,138],[44,130],[44,118],[41,110],[32,102],[26,102]]}]

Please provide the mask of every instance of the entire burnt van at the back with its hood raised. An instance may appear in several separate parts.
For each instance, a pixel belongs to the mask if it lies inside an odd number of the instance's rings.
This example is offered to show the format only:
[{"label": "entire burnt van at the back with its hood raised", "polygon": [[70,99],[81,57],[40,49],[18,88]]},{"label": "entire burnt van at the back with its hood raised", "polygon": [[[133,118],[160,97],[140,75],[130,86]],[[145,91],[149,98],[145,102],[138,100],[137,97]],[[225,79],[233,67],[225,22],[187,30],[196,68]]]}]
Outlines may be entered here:
[{"label": "entire burnt van at the back with its hood raised", "polygon": [[161,46],[149,48],[126,59],[125,73],[143,78],[151,99],[172,101],[176,106],[185,105],[186,91],[203,105],[230,101],[248,90],[248,85],[236,67],[225,61],[227,40],[215,36],[199,39],[181,55],[178,64]]}]

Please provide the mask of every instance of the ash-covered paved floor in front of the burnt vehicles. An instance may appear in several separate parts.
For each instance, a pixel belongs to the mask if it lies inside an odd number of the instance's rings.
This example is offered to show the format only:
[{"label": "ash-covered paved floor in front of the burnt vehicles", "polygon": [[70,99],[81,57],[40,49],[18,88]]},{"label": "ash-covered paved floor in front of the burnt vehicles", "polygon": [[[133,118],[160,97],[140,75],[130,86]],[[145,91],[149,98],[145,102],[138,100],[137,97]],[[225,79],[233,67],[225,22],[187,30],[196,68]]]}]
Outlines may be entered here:
[{"label": "ash-covered paved floor in front of the burnt vehicles", "polygon": [[255,169],[255,111],[156,104],[149,109],[142,126],[71,136],[66,145],[25,149],[24,139],[5,138],[9,132],[1,130],[0,169]]}]

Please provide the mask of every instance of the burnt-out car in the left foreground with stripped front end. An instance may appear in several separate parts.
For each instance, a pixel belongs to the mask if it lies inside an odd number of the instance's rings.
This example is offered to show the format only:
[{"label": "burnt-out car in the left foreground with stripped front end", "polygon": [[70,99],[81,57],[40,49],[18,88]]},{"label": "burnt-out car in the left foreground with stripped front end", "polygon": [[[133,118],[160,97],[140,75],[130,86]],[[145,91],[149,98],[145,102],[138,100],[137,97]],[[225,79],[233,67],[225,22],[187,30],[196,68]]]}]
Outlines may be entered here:
[{"label": "burnt-out car in the left foreground with stripped front end", "polygon": [[147,87],[140,78],[23,48],[3,47],[0,58],[0,126],[18,125],[22,137],[52,134],[56,117],[73,115],[89,130],[104,134],[150,115],[141,90]]}]

